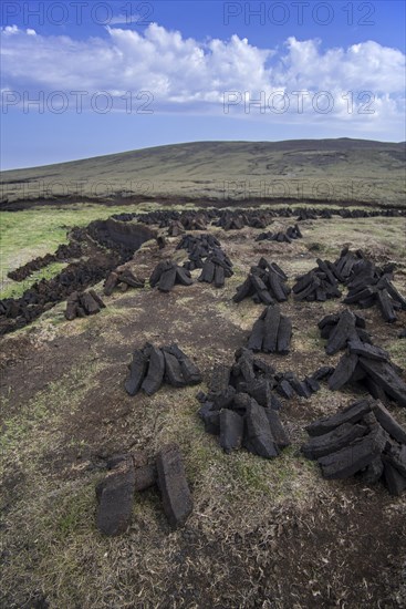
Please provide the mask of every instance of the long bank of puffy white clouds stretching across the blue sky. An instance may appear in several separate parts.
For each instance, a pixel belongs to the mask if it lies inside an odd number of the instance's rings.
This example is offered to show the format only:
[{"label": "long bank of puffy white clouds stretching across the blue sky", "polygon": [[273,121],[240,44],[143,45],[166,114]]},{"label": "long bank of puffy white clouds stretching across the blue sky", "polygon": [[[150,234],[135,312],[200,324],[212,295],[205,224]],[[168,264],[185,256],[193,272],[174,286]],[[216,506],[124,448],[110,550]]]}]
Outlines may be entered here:
[{"label": "long bank of puffy white clouds stretching across the blue sky", "polygon": [[[116,17],[115,23],[122,18]],[[113,96],[150,91],[155,112],[218,114],[223,112],[225,92],[236,91],[241,93],[241,102],[230,106],[229,115],[261,120],[269,115],[279,122],[289,116],[298,123],[305,115],[315,123],[351,121],[377,130],[384,130],[385,122],[403,122],[405,55],[374,41],[322,50],[319,40],[291,37],[282,49],[273,50],[260,49],[238,35],[199,42],[156,23],[143,33],[112,27],[106,32],[105,39],[79,41],[44,37],[15,25],[4,28],[6,89],[33,95],[39,90],[108,91]],[[275,91],[284,92],[290,101],[285,113],[270,111],[268,100]],[[298,91],[306,92],[303,113],[298,110]],[[315,96],[323,91],[333,99],[327,114],[314,109]],[[262,95],[266,114],[256,106],[244,113],[244,92],[251,99]],[[369,105],[362,92],[369,92]],[[321,106],[329,102],[322,96],[316,100]]]}]

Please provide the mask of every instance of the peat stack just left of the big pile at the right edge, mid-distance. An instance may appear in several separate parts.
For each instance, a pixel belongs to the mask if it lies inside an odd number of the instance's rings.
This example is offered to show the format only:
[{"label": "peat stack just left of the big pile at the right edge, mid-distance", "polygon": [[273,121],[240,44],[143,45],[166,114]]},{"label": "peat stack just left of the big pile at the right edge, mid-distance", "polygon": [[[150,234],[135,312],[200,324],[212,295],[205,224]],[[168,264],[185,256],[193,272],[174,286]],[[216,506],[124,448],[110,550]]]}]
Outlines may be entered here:
[{"label": "peat stack just left of the big pile at the right edge, mid-distance", "polygon": [[341,296],[334,265],[320,258],[316,262],[317,266],[314,269],[296,277],[296,282],[292,288],[294,300],[325,302],[327,298]]}]

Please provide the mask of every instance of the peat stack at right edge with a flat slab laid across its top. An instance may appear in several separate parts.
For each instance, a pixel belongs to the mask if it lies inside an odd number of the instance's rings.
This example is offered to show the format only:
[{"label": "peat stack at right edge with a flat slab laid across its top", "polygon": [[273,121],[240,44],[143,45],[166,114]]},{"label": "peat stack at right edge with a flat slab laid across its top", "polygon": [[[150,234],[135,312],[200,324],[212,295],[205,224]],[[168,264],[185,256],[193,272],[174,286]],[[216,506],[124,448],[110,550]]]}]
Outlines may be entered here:
[{"label": "peat stack at right edge with a flat slab laid across its top", "polygon": [[362,382],[373,398],[384,403],[391,399],[406,407],[406,383],[400,373],[386,351],[354,338],[329,378],[329,388],[336,391],[347,383]]}]

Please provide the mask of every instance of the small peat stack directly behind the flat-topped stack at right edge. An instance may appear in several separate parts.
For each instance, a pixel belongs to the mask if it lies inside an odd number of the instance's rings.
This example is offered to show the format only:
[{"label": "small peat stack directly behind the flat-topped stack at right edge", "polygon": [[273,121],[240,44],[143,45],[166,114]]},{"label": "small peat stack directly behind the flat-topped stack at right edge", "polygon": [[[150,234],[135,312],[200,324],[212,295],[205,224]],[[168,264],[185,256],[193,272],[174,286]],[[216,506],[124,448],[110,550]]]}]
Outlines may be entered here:
[{"label": "small peat stack directly behind the flat-topped stack at right edge", "polygon": [[369,334],[365,331],[365,319],[348,309],[325,316],[317,326],[322,339],[327,339],[327,355],[334,355],[345,349],[352,340],[372,343]]}]

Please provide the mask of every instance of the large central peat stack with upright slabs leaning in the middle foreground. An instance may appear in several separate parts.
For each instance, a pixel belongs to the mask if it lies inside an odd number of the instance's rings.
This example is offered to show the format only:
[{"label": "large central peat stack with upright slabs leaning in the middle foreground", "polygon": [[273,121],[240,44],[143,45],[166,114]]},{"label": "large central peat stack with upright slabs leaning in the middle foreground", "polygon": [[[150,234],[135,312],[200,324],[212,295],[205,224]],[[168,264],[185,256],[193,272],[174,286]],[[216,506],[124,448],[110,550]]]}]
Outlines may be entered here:
[{"label": "large central peat stack with upright slabs leaning in the middle foreground", "polygon": [[[262,380],[256,378],[256,368],[264,372]],[[290,444],[277,412],[280,403],[270,392],[267,368],[242,350],[231,370],[215,368],[210,393],[198,395],[205,429],[219,436],[226,453],[244,447],[254,455],[273,458]]]}]

